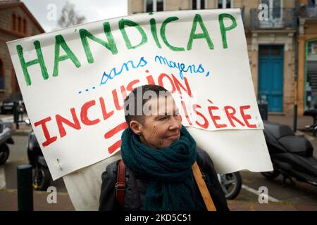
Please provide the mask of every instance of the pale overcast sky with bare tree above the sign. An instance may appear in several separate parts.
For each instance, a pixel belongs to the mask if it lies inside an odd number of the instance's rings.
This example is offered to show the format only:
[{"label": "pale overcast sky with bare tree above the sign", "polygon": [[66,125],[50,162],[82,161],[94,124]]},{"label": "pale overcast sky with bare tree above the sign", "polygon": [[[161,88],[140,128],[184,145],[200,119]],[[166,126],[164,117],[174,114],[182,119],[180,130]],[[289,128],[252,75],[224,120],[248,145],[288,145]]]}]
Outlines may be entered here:
[{"label": "pale overcast sky with bare tree above the sign", "polygon": [[[66,0],[22,0],[45,32],[58,29],[57,20]],[[75,5],[78,15],[84,15],[85,23],[128,15],[128,0],[68,0]]]}]

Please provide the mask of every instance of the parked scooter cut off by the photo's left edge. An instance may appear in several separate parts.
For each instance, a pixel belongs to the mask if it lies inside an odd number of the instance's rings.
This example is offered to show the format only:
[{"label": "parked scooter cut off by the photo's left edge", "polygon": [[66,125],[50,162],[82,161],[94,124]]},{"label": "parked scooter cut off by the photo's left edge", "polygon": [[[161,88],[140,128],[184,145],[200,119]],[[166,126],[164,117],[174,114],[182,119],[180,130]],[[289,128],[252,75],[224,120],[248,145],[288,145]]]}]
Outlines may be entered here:
[{"label": "parked scooter cut off by the photo's left edge", "polygon": [[3,165],[10,155],[7,144],[13,144],[12,139],[14,126],[12,122],[4,122],[0,120],[0,165]]}]

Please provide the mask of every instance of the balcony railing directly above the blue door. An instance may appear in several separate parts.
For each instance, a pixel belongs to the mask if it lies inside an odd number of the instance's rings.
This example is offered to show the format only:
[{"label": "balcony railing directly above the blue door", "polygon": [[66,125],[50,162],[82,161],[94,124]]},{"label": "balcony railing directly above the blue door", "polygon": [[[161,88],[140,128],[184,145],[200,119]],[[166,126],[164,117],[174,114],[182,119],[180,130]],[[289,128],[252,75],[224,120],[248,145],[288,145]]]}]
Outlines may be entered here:
[{"label": "balcony railing directly above the blue door", "polygon": [[297,25],[295,8],[268,8],[268,11],[251,8],[250,24],[252,30],[294,29]]}]

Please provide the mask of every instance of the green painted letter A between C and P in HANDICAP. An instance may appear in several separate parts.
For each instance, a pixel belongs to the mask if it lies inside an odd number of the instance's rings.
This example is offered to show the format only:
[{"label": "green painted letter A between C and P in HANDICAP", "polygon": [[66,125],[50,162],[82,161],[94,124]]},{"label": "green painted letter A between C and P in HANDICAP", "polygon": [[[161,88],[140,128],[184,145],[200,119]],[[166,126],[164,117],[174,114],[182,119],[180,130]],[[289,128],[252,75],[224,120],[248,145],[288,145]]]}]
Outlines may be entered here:
[{"label": "green painted letter A between C and P in HANDICAP", "polygon": [[[201,27],[202,34],[195,34],[197,22],[199,23]],[[192,22],[192,31],[190,32],[189,41],[187,44],[187,50],[191,50],[192,41],[194,41],[194,39],[199,39],[199,38],[206,39],[209,49],[213,49],[213,41],[211,41],[211,38],[209,37],[208,30],[206,29],[204,22],[202,21],[201,15],[196,14]]]}]

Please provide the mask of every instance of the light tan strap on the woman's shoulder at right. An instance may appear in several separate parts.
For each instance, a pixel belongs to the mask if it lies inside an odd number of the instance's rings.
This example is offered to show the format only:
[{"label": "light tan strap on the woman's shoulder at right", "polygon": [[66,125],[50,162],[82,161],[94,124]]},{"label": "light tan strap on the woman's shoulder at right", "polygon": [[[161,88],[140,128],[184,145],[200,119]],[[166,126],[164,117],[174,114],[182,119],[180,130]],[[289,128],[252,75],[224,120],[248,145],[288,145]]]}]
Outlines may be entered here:
[{"label": "light tan strap on the woman's shoulder at right", "polygon": [[204,199],[204,203],[206,205],[207,210],[208,211],[217,211],[215,205],[213,204],[213,199],[211,198],[209,190],[206,186],[206,183],[203,179],[200,168],[199,168],[196,161],[192,165],[192,173],[194,174],[194,178],[196,180],[197,186],[198,186],[199,191],[201,193],[201,197]]}]

